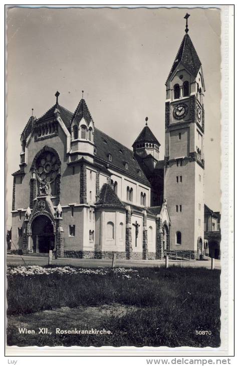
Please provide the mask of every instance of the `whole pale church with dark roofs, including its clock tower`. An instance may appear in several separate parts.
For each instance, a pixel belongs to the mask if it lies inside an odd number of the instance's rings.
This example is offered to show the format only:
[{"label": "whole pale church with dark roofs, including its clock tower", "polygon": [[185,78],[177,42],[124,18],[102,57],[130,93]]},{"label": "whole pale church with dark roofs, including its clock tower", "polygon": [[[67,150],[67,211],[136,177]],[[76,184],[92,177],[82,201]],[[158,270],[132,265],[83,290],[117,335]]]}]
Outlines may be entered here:
[{"label": "whole pale church with dark roofs, including its clock tower", "polygon": [[121,259],[204,254],[205,86],[187,25],[165,85],[164,160],[147,117],[130,149],[99,129],[83,95],[71,112],[57,92],[43,116],[30,117],[13,173],[12,242],[19,252]]}]

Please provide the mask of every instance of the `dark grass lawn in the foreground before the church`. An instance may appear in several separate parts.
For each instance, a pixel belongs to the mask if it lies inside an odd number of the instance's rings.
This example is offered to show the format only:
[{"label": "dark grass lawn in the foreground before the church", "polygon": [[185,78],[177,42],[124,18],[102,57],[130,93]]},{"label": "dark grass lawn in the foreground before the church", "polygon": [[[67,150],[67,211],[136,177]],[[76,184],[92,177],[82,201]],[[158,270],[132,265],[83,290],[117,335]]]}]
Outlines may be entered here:
[{"label": "dark grass lawn in the foreground before the church", "polygon": [[[8,275],[9,345],[220,345],[220,271],[104,269],[101,274]],[[48,334],[39,334],[39,328]],[[35,330],[20,333],[19,328]],[[57,334],[97,329],[107,334]],[[196,334],[209,331],[209,334]],[[51,334],[50,334],[51,332]]]}]

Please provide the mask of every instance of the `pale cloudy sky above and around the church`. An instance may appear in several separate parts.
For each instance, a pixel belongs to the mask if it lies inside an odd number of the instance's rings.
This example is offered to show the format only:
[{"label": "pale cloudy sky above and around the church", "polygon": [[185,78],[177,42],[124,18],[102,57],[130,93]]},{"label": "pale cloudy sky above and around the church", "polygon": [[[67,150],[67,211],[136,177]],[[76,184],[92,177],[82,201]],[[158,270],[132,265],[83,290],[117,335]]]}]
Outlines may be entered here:
[{"label": "pale cloudy sky above and around the church", "polygon": [[84,90],[95,126],[127,147],[145,125],[164,158],[165,81],[185,34],[205,81],[205,204],[220,211],[220,10],[12,8],[7,16],[7,226],[21,133],[59,103],[74,112]]}]

